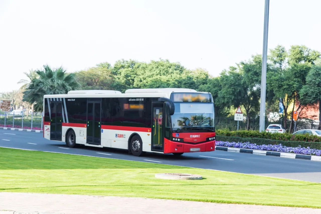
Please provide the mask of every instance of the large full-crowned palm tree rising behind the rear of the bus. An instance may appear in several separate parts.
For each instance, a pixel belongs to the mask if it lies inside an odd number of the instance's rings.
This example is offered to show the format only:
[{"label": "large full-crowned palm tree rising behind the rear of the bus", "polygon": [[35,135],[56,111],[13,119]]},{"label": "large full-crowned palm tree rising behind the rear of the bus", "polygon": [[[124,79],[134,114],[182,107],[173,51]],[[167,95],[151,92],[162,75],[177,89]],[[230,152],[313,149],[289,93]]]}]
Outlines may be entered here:
[{"label": "large full-crowned palm tree rising behind the rear of the bus", "polygon": [[35,111],[43,111],[43,96],[46,94],[66,94],[70,90],[80,88],[76,81],[74,73],[65,73],[66,71],[59,67],[52,70],[48,65],[44,65],[44,70],[36,70],[38,75],[31,79],[24,91],[23,100],[34,103]]}]

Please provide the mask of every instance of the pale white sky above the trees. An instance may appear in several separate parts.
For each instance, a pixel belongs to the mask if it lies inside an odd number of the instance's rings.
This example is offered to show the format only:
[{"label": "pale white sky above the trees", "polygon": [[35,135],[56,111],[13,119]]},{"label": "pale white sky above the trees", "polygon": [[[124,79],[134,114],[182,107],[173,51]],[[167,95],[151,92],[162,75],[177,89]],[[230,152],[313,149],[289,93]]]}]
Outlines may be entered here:
[{"label": "pale white sky above the trees", "polygon": [[[0,92],[43,64],[169,59],[213,76],[262,54],[264,0],[0,0]],[[268,48],[321,51],[319,0],[270,0]]]}]

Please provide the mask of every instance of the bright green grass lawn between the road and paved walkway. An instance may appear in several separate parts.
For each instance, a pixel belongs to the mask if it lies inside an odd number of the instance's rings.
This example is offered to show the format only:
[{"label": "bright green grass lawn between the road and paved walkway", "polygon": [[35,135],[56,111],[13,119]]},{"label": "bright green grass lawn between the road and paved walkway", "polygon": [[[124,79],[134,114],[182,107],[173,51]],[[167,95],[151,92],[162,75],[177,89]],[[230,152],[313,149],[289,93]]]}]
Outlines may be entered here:
[{"label": "bright green grass lawn between the road and paved walkway", "polygon": [[[204,179],[155,178],[155,173],[164,172],[193,173],[202,175]],[[111,195],[321,208],[319,183],[6,148],[0,148],[0,192]]]}]

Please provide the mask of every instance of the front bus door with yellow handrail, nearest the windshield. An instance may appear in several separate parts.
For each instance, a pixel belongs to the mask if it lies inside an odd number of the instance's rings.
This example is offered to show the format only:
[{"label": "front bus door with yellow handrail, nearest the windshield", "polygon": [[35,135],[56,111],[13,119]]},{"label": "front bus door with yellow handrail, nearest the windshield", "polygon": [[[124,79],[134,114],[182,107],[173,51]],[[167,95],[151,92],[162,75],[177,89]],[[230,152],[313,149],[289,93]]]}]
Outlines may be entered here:
[{"label": "front bus door with yellow handrail, nearest the windshield", "polygon": [[164,103],[152,102],[152,151],[164,150]]}]

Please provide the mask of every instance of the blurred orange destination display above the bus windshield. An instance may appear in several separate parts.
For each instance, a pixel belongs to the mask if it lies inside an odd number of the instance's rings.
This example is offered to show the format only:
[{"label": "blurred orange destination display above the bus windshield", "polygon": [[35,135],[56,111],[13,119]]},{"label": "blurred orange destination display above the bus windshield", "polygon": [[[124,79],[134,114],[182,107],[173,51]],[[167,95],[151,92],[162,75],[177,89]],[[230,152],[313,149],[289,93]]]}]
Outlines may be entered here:
[{"label": "blurred orange destination display above the bus windshield", "polygon": [[201,102],[210,103],[212,101],[208,93],[172,93],[170,99],[173,102]]}]

